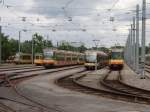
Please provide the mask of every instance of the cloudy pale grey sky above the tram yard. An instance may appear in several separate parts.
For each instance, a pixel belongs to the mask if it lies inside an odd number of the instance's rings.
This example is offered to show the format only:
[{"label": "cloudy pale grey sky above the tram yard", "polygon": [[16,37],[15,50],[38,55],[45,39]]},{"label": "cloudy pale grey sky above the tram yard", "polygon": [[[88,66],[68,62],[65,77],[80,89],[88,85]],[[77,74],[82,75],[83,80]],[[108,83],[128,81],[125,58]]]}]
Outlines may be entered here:
[{"label": "cloudy pale grey sky above the tram yard", "polygon": [[[55,45],[61,41],[87,47],[125,45],[137,4],[141,10],[142,0],[0,0],[0,25],[10,38],[18,39],[21,31],[21,41],[31,40],[37,32]],[[147,0],[147,44],[149,9]]]}]

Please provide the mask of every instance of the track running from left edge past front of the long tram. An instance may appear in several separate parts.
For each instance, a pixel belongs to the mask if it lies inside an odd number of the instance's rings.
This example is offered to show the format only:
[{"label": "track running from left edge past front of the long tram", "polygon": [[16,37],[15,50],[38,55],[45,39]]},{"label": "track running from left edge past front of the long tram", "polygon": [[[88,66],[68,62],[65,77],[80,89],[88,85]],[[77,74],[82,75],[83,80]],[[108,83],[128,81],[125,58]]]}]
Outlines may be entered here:
[{"label": "track running from left edge past front of the long tram", "polygon": [[[11,80],[12,82],[17,84],[19,82],[22,82],[23,80],[27,80],[27,79],[33,78],[35,76],[38,76],[38,75],[46,75],[49,73],[60,72],[60,71],[70,70],[70,69],[79,68],[79,67],[82,67],[82,66],[71,66],[71,67],[62,67],[62,68],[54,68],[54,69],[40,69],[40,70],[39,69],[21,70],[21,71],[17,71],[17,72],[11,73],[11,74],[6,72],[1,75],[0,84],[1,84],[1,86],[7,85],[6,79],[8,79],[8,78],[9,78],[9,80]],[[7,86],[9,86],[9,85],[7,85]]]}]

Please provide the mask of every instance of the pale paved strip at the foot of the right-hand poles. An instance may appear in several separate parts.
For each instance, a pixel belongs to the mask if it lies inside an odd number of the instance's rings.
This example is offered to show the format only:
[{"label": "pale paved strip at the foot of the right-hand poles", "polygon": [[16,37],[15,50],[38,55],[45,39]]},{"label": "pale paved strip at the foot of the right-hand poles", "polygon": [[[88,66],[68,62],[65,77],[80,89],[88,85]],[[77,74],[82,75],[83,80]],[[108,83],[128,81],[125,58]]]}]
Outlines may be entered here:
[{"label": "pale paved strip at the foot of the right-hand poles", "polygon": [[[150,77],[150,73],[145,72],[145,74]],[[136,74],[127,65],[122,70],[122,79],[128,85],[150,90],[150,78],[141,79],[140,74]]]}]

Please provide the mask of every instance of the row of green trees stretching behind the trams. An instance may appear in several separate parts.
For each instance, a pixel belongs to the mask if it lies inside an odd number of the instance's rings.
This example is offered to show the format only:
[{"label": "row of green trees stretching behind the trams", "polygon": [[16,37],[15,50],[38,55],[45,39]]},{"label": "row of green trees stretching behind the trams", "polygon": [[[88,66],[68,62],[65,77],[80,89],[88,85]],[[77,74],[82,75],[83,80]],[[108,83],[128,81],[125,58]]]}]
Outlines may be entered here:
[{"label": "row of green trees stretching behind the trams", "polygon": [[[19,41],[10,38],[4,33],[0,34],[2,43],[2,60],[7,60],[9,56],[15,55],[19,51]],[[84,52],[87,48],[84,45],[75,47],[67,42],[63,42],[60,45],[54,46],[51,40],[45,40],[44,37],[38,33],[35,33],[32,37],[33,40],[25,40],[20,42],[21,52],[32,53],[32,44],[34,46],[34,53],[42,53],[44,48],[57,48],[60,50],[78,51]]]}]

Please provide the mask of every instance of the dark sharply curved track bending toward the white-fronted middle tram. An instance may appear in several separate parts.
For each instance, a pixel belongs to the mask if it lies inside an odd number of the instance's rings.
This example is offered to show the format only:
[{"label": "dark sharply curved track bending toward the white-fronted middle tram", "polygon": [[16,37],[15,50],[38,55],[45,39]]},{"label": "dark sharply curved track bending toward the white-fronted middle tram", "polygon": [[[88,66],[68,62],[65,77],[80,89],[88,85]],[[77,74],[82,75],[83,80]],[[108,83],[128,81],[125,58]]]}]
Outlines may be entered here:
[{"label": "dark sharply curved track bending toward the white-fronted middle tram", "polygon": [[79,91],[90,95],[110,97],[111,94],[110,91],[100,89],[99,87],[91,87],[90,85],[80,82],[82,78],[85,78],[90,73],[92,73],[92,71],[83,71],[83,72],[75,73],[69,76],[61,77],[55,80],[55,83],[61,87],[71,89],[74,91]]}]

